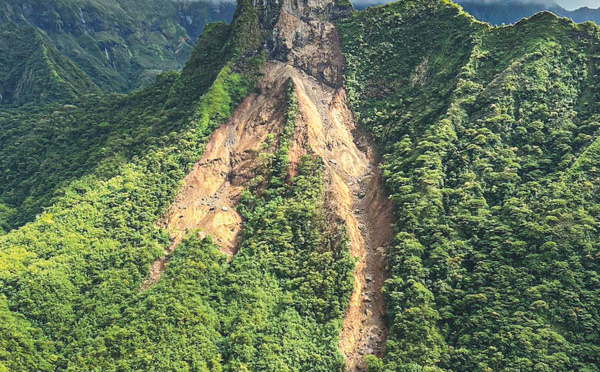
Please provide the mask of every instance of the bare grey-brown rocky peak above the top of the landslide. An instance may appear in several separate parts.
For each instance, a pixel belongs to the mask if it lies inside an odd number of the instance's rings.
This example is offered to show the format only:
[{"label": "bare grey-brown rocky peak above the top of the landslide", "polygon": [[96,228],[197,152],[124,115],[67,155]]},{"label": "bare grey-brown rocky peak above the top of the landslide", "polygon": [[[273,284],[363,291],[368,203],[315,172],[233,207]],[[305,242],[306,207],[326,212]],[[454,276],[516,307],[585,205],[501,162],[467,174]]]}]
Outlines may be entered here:
[{"label": "bare grey-brown rocky peak above the top of the landslide", "polygon": [[253,0],[253,6],[259,9],[272,59],[287,62],[332,87],[342,85],[342,50],[332,21],[350,14],[350,3]]}]

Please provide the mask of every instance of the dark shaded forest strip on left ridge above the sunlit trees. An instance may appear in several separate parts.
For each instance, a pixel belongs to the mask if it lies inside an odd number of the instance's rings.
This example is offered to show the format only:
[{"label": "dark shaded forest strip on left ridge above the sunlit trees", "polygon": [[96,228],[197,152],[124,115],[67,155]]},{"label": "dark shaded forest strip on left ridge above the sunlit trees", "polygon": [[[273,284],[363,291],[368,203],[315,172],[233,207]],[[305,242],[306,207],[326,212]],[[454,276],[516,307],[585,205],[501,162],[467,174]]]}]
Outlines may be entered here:
[{"label": "dark shaded forest strip on left ridge above the sunlit trees", "polygon": [[[10,225],[32,220],[85,174],[112,175],[121,162],[145,153],[148,140],[181,125],[181,116],[206,92],[230,56],[224,52],[228,36],[225,24],[213,25],[199,38],[182,75],[165,75],[142,92],[0,110],[0,202],[17,211]],[[178,88],[182,85],[194,92],[189,99],[181,98],[188,96]],[[63,91],[58,88],[54,91]]]}]

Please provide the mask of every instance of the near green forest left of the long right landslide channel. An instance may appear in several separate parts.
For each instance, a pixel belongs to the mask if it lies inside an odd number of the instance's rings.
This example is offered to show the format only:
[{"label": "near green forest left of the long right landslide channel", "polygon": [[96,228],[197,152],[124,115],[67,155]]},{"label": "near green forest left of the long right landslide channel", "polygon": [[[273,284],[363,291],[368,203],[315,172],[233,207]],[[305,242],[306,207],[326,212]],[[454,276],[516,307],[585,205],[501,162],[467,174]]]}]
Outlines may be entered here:
[{"label": "near green forest left of the long right landslide channel", "polygon": [[256,24],[245,12],[207,27],[181,74],[134,94],[2,111],[0,370],[343,371],[354,261],[323,208],[320,160],[289,175],[291,86],[282,134],[239,205],[234,261],[189,232],[139,291],[169,245],[156,221],[256,85]]}]

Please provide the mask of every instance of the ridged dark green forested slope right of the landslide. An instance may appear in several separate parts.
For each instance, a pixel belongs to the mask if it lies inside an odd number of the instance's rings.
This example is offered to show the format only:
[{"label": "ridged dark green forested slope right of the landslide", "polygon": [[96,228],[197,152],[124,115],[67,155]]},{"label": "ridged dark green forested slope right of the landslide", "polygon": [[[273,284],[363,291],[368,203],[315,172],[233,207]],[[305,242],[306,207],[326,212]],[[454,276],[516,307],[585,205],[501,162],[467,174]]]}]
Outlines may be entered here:
[{"label": "ridged dark green forested slope right of the landslide", "polygon": [[339,24],[397,205],[375,371],[598,371],[600,29],[447,1]]}]

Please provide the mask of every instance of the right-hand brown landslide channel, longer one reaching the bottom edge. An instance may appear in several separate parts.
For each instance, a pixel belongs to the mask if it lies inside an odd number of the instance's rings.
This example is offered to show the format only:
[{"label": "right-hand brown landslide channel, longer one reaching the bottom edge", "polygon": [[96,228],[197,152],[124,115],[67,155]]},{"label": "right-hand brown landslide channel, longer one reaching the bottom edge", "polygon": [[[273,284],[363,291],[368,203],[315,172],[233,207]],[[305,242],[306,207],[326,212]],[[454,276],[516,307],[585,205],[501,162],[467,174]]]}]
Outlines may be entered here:
[{"label": "right-hand brown landslide channel, longer one reaching the bottom edge", "polygon": [[321,84],[297,70],[294,84],[300,118],[290,162],[308,148],[325,163],[330,212],[346,224],[350,252],[358,258],[340,349],[350,371],[366,370],[364,356],[382,356],[388,335],[381,288],[385,249],[393,238],[393,205],[382,186],[372,146],[355,127],[344,89]]}]

